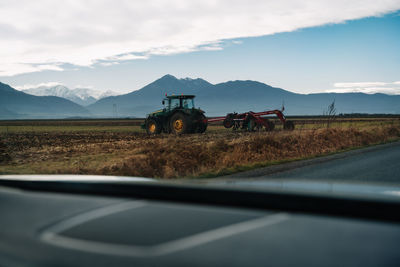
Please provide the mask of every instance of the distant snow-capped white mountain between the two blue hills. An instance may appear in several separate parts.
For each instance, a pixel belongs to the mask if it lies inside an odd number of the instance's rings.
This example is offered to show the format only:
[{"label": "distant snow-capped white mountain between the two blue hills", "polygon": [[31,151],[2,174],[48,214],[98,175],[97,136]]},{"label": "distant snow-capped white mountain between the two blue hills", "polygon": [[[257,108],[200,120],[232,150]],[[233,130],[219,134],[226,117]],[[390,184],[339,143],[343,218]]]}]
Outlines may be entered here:
[{"label": "distant snow-capped white mountain between the two blue hills", "polygon": [[93,104],[104,97],[117,95],[117,93],[110,90],[102,92],[90,88],[69,89],[64,85],[42,85],[39,87],[24,89],[22,92],[35,96],[58,96],[71,100],[82,106]]}]

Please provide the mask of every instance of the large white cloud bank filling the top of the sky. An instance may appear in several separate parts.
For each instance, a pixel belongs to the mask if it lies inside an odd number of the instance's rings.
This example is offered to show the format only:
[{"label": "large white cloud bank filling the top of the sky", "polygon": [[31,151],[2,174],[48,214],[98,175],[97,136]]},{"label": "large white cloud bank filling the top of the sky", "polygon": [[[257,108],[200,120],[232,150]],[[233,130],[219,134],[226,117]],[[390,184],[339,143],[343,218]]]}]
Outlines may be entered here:
[{"label": "large white cloud bank filling the top of the sky", "polygon": [[0,76],[220,50],[223,40],[398,9],[398,0],[2,0]]}]

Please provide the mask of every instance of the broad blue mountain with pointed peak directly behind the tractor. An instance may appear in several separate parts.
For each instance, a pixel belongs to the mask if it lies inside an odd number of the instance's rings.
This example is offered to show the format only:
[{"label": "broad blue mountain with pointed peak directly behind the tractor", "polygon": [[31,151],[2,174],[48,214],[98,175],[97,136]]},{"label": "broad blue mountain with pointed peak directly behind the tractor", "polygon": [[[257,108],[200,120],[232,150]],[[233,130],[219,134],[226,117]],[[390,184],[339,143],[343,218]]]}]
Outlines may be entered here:
[{"label": "broad blue mountain with pointed peak directly behind the tractor", "polygon": [[[363,93],[296,94],[256,81],[211,84],[203,79],[177,79],[165,75],[129,94],[103,98],[87,108],[99,116],[144,117],[161,107],[165,94],[195,94],[196,106],[207,116],[228,112],[280,109],[287,115],[321,115],[335,100],[338,113],[400,113],[400,96]],[[115,108],[114,108],[115,107]]]}]

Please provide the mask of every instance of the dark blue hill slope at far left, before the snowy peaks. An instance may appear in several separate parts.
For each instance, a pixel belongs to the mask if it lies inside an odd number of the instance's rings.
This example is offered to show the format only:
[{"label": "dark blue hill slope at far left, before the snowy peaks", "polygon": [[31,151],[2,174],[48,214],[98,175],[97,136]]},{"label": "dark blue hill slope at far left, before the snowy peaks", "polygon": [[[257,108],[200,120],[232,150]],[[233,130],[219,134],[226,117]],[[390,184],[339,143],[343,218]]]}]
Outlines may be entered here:
[{"label": "dark blue hill slope at far left, before the snowy peaks", "polygon": [[82,106],[56,96],[33,96],[0,82],[0,118],[64,118],[90,116]]}]

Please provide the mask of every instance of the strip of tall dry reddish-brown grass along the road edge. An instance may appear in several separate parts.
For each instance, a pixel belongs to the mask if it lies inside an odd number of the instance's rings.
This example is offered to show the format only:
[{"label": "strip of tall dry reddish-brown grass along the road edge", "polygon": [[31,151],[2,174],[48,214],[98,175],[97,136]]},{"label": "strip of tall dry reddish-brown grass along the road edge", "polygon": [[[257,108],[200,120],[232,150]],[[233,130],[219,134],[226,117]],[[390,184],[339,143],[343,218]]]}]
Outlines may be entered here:
[{"label": "strip of tall dry reddish-brown grass along the road edge", "polygon": [[399,136],[399,128],[388,127],[373,131],[320,129],[293,134],[244,134],[216,140],[154,140],[115,170],[116,174],[165,178],[218,175],[244,166],[323,155]]}]

